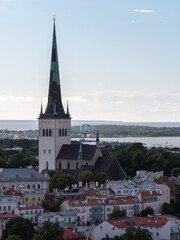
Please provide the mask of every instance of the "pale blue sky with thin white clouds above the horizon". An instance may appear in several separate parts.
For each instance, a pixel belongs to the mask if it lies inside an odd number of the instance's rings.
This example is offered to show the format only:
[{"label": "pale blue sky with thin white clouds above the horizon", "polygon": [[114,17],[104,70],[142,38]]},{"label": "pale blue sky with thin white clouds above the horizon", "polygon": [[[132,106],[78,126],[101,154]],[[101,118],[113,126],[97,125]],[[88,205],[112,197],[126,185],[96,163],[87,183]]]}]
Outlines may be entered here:
[{"label": "pale blue sky with thin white clouds above the horizon", "polygon": [[0,119],[46,107],[53,15],[73,120],[180,120],[179,0],[0,0]]}]

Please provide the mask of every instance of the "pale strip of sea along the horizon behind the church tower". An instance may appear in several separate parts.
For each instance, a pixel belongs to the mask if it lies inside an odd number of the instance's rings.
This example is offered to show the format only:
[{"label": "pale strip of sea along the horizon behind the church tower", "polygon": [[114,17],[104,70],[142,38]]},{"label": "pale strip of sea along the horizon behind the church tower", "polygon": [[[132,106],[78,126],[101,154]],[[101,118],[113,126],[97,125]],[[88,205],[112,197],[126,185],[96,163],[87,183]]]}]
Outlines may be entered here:
[{"label": "pale strip of sea along the horizon behind the church tower", "polygon": [[[180,122],[123,122],[108,120],[72,120],[71,126],[90,125],[128,125],[150,127],[180,127]],[[0,130],[37,130],[38,120],[0,120]]]}]

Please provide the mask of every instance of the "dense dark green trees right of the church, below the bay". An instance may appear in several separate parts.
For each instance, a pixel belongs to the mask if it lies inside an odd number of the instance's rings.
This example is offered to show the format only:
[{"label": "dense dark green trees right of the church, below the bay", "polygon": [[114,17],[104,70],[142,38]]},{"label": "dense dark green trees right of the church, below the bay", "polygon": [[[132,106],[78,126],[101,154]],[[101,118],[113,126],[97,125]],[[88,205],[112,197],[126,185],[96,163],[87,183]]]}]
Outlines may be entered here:
[{"label": "dense dark green trees right of the church, below the bay", "polygon": [[[176,151],[175,151],[176,150]],[[146,148],[142,143],[112,148],[107,145],[101,148],[104,156],[115,157],[127,176],[134,177],[137,170],[164,171],[165,176],[171,175],[173,168],[180,167],[180,149]]]}]

